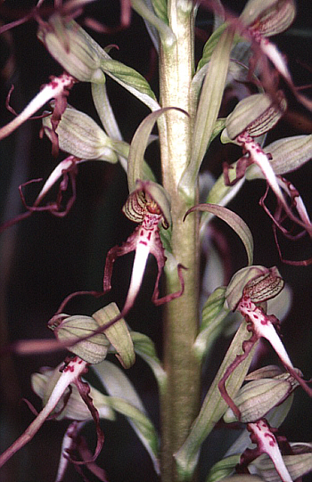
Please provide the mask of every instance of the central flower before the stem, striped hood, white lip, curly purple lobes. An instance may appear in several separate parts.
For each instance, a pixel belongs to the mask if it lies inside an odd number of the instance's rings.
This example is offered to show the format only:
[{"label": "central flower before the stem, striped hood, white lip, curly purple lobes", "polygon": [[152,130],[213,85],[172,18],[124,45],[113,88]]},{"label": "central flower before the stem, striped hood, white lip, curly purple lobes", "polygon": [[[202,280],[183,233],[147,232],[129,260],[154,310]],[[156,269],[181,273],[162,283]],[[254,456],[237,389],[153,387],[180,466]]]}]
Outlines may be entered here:
[{"label": "central flower before the stem, striped hood, white lip, curly purple lobes", "polygon": [[160,223],[165,229],[168,229],[170,224],[168,199],[161,186],[152,183],[152,181],[137,181],[136,186],[135,191],[128,196],[123,212],[129,219],[139,223],[139,225],[135,228],[134,233],[127,238],[126,242],[120,247],[115,246],[111,248],[108,252],[103,277],[103,291],[107,292],[111,290],[112,266],[116,258],[135,250],[130,286],[125,306],[121,311],[123,316],[135,303],[150,253],[156,258],[158,266],[158,274],[152,293],[153,303],[155,305],[167,303],[182,296],[184,291],[184,281],[181,274],[183,266],[178,265],[177,270],[181,282],[181,290],[159,298],[160,275],[166,263],[165,249],[160,240]]}]

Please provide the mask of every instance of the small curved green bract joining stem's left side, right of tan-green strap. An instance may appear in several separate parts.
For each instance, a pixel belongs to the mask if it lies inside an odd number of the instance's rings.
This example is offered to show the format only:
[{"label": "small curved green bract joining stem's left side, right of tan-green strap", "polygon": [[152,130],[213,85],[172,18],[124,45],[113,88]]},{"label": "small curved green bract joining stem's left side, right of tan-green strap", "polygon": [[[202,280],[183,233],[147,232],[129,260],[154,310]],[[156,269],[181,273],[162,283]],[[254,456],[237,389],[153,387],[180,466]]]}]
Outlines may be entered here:
[{"label": "small curved green bract joining stem's left side, right of tan-green strap", "polygon": [[135,353],[140,355],[152,368],[152,372],[158,382],[160,393],[162,393],[166,388],[167,374],[160,364],[160,359],[156,354],[152,339],[136,331],[130,331],[130,335],[135,345]]}]

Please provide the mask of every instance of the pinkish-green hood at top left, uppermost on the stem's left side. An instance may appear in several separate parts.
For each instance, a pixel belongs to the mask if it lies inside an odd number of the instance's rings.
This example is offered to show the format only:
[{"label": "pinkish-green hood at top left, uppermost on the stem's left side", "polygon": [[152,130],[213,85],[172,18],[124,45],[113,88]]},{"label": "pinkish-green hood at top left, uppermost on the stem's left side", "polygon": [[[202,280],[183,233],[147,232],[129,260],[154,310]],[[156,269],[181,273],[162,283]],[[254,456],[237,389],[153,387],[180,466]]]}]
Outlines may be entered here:
[{"label": "pinkish-green hood at top left, uppermost on the stem's left side", "polygon": [[74,20],[65,22],[54,14],[48,23],[40,23],[37,37],[74,78],[95,84],[105,82],[100,69],[103,49]]}]

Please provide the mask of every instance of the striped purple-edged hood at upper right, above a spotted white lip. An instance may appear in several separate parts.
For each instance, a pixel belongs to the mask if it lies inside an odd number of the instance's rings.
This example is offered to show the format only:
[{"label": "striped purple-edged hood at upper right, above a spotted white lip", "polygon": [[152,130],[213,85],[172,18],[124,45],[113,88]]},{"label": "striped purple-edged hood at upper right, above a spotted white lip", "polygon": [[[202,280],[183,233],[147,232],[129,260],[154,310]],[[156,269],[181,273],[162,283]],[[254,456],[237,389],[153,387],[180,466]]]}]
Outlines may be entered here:
[{"label": "striped purple-edged hood at upper right, above a spotted white lip", "polygon": [[268,94],[253,94],[238,102],[226,118],[226,135],[232,140],[243,132],[251,137],[265,134],[283,116],[287,102],[283,92],[275,97]]}]

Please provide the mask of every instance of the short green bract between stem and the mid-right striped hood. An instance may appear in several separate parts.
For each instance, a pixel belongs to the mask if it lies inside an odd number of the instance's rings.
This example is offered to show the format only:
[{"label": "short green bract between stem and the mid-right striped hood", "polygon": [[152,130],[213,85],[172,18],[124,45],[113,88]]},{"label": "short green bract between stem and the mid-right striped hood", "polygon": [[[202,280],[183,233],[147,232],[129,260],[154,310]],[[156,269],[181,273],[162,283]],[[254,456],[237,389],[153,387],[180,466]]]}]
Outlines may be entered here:
[{"label": "short green bract between stem and the mid-right striped hood", "polygon": [[200,333],[194,342],[195,355],[201,360],[225,328],[229,310],[224,307],[226,287],[217,288],[202,308]]}]

